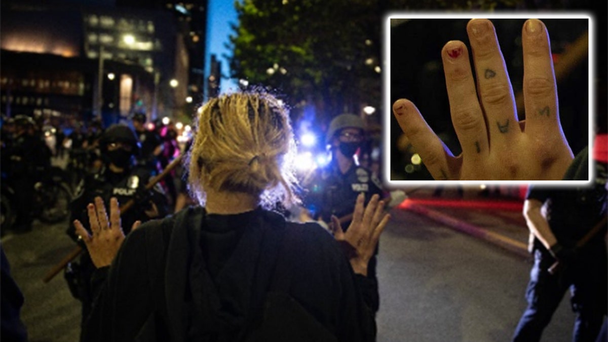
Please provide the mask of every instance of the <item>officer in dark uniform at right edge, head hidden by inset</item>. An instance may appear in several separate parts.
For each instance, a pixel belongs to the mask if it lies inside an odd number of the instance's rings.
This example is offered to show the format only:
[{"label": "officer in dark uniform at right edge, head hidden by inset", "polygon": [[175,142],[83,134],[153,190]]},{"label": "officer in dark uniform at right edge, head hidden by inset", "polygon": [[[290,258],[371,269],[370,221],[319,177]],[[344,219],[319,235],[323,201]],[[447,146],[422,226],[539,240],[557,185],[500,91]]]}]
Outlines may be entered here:
[{"label": "officer in dark uniform at right edge, head hidden by inset", "polygon": [[[587,178],[588,153],[588,148],[579,153],[565,180]],[[534,266],[526,290],[528,307],[513,341],[539,341],[568,288],[577,314],[573,341],[595,341],[598,336],[608,301],[606,230],[577,245],[607,214],[606,160],[595,161],[595,166],[595,184],[590,186],[528,189],[523,214],[534,235]],[[551,274],[548,269],[556,261],[560,268]]]}]

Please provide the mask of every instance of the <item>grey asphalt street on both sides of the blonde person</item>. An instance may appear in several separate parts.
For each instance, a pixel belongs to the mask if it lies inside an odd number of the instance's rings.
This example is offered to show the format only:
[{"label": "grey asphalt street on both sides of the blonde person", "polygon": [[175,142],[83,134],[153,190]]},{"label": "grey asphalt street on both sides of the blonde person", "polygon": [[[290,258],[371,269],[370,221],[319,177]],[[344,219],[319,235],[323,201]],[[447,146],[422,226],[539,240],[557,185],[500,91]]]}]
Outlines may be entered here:
[{"label": "grey asphalt street on both sides of the blonde person", "polygon": [[[471,211],[469,219],[477,216]],[[70,295],[63,274],[42,281],[75,246],[66,225],[36,220],[32,232],[2,238],[26,299],[21,313],[32,342],[78,340],[80,302]],[[393,209],[380,242],[378,341],[510,341],[525,308],[530,266],[520,254],[425,215]],[[543,341],[570,341],[573,322],[564,298]]]}]

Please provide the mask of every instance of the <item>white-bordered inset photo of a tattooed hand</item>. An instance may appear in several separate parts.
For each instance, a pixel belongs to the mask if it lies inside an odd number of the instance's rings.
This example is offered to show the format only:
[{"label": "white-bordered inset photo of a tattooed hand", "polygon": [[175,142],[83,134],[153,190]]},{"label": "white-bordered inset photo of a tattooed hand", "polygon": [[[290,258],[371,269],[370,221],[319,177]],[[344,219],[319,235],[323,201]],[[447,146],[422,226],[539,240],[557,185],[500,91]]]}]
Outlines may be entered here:
[{"label": "white-bordered inset photo of a tattooed hand", "polygon": [[480,15],[387,16],[385,180],[589,183],[592,16]]}]

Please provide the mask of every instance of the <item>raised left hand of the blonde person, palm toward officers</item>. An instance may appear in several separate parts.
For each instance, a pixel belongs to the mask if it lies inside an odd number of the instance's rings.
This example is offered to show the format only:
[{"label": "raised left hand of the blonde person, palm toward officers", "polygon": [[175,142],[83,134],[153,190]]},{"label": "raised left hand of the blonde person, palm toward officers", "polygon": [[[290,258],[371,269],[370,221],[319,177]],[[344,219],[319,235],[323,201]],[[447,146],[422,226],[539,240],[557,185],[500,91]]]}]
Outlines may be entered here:
[{"label": "raised left hand of the blonde person, palm toward officers", "polygon": [[[75,220],[76,234],[85,242],[95,267],[109,266],[125,240],[125,233],[120,225],[118,200],[115,197],[110,199],[109,221],[102,198],[95,197],[95,203],[89,203],[86,209],[92,234],[89,234],[80,221]],[[140,224],[140,221],[135,222],[131,230],[136,229]]]}]

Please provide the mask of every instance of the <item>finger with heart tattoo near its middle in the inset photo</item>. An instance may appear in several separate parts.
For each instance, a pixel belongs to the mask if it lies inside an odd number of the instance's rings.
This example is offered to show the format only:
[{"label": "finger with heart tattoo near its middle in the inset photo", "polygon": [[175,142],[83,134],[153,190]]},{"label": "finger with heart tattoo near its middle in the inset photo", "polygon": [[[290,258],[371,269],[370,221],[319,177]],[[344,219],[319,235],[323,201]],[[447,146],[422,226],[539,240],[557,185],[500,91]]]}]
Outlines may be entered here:
[{"label": "finger with heart tattoo near its middle in the inset photo", "polygon": [[480,102],[488,120],[490,148],[507,145],[521,131],[513,88],[494,26],[488,19],[471,19],[466,30],[473,51]]}]

